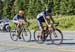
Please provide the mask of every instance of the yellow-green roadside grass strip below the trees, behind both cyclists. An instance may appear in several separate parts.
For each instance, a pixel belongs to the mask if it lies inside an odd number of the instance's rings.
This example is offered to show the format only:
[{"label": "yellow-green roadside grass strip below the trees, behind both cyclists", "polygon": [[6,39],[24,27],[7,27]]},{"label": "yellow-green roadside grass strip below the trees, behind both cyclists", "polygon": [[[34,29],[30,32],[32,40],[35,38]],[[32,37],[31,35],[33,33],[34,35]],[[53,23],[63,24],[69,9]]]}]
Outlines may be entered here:
[{"label": "yellow-green roadside grass strip below the trees, behind both cyclists", "polygon": [[[58,28],[61,30],[75,30],[75,16],[61,16],[61,17],[54,17],[56,22],[59,22]],[[35,19],[30,19],[30,26],[28,27],[31,30],[37,29],[37,21]],[[15,28],[14,23],[10,20],[10,26],[12,29]]]}]

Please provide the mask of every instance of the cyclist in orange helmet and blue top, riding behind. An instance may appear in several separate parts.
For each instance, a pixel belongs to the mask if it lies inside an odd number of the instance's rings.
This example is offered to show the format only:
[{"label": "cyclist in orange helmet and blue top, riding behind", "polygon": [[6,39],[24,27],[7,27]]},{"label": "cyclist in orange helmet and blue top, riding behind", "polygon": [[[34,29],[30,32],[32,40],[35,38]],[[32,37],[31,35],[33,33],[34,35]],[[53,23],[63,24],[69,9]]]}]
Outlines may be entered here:
[{"label": "cyclist in orange helmet and blue top, riding behind", "polygon": [[[16,14],[13,18],[13,22],[16,24],[17,27],[19,27],[22,23],[24,22],[27,22],[29,24],[29,22],[26,20],[26,17],[24,16],[25,14],[25,11],[24,9],[20,9],[18,11],[18,14]],[[18,32],[17,33],[17,36],[19,37],[19,39],[21,39],[20,37],[20,33],[21,32]]]}]

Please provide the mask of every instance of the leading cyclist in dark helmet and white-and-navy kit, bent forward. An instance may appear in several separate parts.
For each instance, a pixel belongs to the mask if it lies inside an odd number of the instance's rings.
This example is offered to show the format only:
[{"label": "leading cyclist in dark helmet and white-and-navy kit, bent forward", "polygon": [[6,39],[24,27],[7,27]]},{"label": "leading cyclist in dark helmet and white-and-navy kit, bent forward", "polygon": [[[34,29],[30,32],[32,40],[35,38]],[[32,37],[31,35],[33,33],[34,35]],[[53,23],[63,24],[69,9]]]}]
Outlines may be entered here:
[{"label": "leading cyclist in dark helmet and white-and-navy kit, bent forward", "polygon": [[42,23],[45,22],[46,26],[51,27],[51,25],[48,22],[49,20],[48,20],[47,16],[50,16],[50,19],[54,22],[51,12],[52,12],[52,9],[49,7],[48,9],[46,9],[45,11],[43,11],[37,15],[37,23],[38,23],[39,29],[41,30],[41,35],[39,35],[39,37],[42,37],[43,39],[44,39],[44,36],[43,36],[44,28],[43,28]]}]

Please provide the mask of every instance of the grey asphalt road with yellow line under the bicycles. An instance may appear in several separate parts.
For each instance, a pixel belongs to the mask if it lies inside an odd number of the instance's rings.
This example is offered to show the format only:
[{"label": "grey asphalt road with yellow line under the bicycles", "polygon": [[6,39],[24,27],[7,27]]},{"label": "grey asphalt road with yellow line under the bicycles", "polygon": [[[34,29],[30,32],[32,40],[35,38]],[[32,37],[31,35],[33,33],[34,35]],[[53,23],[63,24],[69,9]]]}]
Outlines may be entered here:
[{"label": "grey asphalt road with yellow line under the bicycles", "polygon": [[33,40],[33,32],[30,42],[12,41],[9,33],[0,32],[0,52],[75,52],[75,31],[63,31],[63,37],[61,45],[50,41],[38,44]]}]

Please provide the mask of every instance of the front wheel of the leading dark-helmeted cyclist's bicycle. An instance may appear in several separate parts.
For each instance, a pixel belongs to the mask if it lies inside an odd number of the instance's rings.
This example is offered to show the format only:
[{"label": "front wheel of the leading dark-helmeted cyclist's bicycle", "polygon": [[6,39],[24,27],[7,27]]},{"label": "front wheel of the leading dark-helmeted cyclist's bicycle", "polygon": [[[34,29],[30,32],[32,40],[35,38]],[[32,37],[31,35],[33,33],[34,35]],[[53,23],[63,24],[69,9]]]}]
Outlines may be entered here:
[{"label": "front wheel of the leading dark-helmeted cyclist's bicycle", "polygon": [[61,44],[63,42],[63,34],[59,29],[55,29],[53,32],[51,32],[50,36],[53,44]]}]

